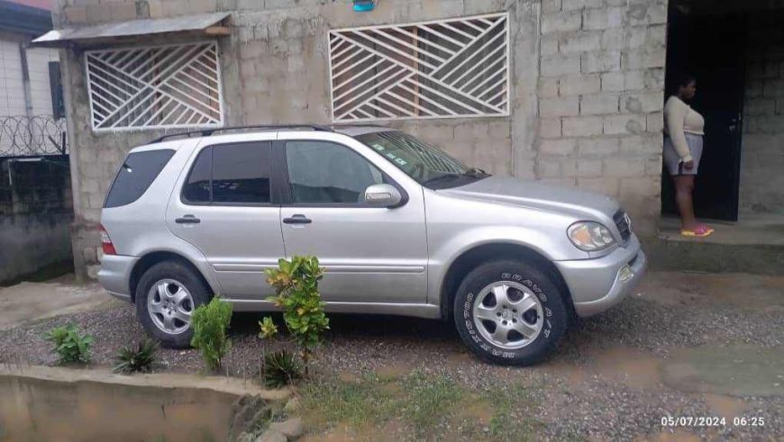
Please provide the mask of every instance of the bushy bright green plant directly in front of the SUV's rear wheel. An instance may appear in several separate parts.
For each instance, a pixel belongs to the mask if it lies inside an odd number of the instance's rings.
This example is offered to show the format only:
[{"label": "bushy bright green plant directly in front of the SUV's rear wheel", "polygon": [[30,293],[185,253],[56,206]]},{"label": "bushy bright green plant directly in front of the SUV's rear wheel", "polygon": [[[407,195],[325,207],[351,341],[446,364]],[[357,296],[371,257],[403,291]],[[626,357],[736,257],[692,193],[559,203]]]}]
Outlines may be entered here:
[{"label": "bushy bright green plant directly in front of the SUV's rear wheel", "polygon": [[215,296],[212,301],[200,305],[191,315],[193,338],[191,345],[202,352],[207,368],[216,370],[223,364],[223,356],[232,347],[226,330],[232,321],[232,304]]}]

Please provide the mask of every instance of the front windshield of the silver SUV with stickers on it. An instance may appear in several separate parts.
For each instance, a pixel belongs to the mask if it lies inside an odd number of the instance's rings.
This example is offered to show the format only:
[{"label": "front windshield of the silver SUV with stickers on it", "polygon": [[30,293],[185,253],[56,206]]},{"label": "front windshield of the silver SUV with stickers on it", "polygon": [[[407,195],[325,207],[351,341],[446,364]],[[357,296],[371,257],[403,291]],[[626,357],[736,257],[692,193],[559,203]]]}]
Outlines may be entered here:
[{"label": "front windshield of the silver SUV with stickers on it", "polygon": [[442,149],[401,131],[371,132],[356,137],[419,184],[432,189],[467,185],[486,178],[483,170],[466,167]]}]

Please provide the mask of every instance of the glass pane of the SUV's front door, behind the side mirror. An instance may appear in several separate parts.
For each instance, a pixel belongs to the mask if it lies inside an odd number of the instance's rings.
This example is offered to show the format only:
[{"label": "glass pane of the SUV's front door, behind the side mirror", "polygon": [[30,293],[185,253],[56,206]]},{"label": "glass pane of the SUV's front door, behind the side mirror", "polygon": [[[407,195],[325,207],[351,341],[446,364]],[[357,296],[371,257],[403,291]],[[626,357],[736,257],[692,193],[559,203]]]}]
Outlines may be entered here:
[{"label": "glass pane of the SUV's front door, behind the side mirror", "polygon": [[363,203],[365,189],[384,182],[378,168],[338,144],[290,141],[286,157],[295,203]]}]

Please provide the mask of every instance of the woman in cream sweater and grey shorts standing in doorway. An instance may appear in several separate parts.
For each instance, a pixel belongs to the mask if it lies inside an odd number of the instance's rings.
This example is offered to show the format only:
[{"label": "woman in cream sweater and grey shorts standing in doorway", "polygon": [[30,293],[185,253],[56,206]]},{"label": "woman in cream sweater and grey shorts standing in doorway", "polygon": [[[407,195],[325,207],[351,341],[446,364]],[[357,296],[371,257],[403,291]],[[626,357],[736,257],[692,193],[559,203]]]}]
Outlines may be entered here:
[{"label": "woman in cream sweater and grey shorts standing in doorway", "polygon": [[688,105],[697,93],[697,80],[683,75],[678,80],[678,94],[664,105],[664,164],[675,183],[675,203],[680,213],[680,234],[707,237],[713,229],[697,223],[692,191],[702,157],[705,119]]}]

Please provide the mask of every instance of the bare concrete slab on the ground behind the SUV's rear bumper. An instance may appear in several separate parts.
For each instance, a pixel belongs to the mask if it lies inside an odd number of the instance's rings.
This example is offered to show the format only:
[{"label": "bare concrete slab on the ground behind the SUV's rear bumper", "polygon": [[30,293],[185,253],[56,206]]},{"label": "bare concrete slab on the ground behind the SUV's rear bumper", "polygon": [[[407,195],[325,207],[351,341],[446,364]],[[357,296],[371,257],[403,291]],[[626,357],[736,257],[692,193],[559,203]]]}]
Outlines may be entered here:
[{"label": "bare concrete slab on the ground behind the SUV's rear bumper", "polygon": [[45,283],[21,283],[0,288],[0,329],[80,311],[120,305],[98,284],[77,284],[73,275]]}]

